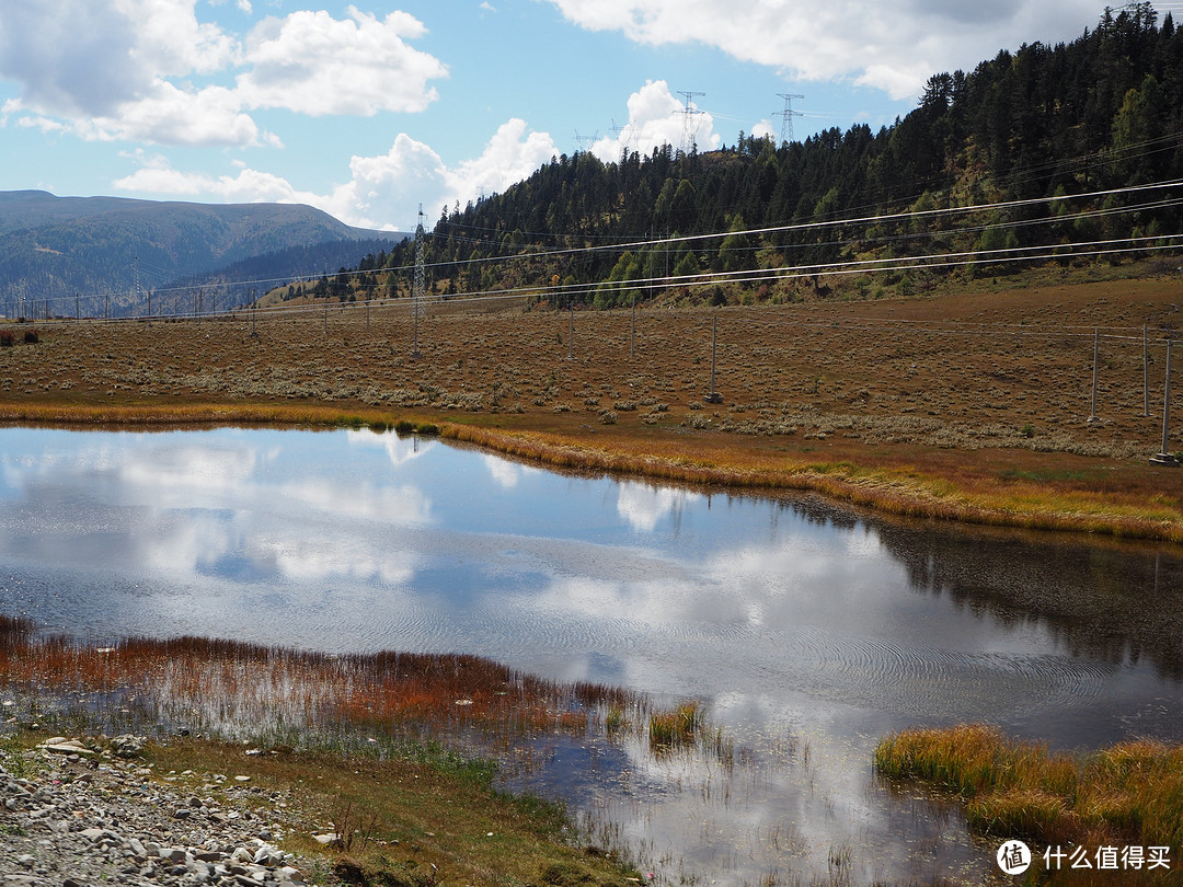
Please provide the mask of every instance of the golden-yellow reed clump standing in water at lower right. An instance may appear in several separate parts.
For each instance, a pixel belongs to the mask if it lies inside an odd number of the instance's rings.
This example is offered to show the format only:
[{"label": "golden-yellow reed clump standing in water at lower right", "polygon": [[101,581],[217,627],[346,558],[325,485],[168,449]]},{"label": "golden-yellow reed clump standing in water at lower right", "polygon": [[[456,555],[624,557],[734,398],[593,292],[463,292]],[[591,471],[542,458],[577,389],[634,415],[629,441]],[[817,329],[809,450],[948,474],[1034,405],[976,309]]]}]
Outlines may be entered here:
[{"label": "golden-yellow reed clump standing in water at lower right", "polygon": [[1132,740],[1053,753],[981,725],[884,739],[878,771],[959,795],[984,833],[1042,843],[1183,846],[1183,745]]}]

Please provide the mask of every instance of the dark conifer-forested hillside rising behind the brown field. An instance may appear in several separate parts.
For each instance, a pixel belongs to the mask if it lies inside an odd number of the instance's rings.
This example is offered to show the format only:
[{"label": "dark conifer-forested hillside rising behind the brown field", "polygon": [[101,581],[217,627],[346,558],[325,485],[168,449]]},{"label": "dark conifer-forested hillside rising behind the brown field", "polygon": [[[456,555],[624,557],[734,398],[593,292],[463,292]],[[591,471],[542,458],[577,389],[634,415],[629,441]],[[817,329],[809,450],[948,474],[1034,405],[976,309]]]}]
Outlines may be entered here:
[{"label": "dark conifer-forested hillside rising behind the brown field", "polygon": [[[504,194],[445,207],[425,242],[428,285],[610,306],[796,298],[827,291],[829,274],[852,294],[907,294],[1053,252],[1065,265],[1156,255],[1176,242],[1183,189],[1139,188],[1183,175],[1181,132],[1183,33],[1133,4],[1071,44],[932,76],[879,131],[556,157]],[[396,274],[354,284],[406,293],[414,259],[407,241],[388,258]]]}]

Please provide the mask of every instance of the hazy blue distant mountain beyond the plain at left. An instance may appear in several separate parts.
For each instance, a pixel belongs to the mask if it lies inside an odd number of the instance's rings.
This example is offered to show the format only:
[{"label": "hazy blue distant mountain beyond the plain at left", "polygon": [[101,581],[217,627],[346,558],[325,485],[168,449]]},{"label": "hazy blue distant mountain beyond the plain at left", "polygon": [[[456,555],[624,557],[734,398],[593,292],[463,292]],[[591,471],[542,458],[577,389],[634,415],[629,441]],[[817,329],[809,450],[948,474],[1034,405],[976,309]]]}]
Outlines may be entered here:
[{"label": "hazy blue distant mountain beyond the plain at left", "polygon": [[[89,315],[104,305],[112,315],[135,315],[146,310],[147,291],[212,279],[234,263],[269,257],[252,263],[252,276],[306,276],[322,273],[325,263],[355,265],[375,245],[405,237],[350,227],[302,205],[0,192],[0,313],[27,315],[35,302],[38,316],[46,304],[53,315],[73,315],[76,305]],[[315,252],[313,267],[305,267],[304,251]],[[215,278],[234,279],[225,272]]]}]

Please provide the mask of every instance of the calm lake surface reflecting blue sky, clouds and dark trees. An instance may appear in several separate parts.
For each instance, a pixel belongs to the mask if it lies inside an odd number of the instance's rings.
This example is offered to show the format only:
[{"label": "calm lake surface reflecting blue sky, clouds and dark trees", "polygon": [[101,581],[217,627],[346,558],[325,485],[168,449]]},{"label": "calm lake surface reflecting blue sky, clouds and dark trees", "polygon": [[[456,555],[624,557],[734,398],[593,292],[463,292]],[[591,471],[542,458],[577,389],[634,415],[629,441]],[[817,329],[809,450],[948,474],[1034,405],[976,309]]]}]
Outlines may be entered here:
[{"label": "calm lake surface reflecting blue sky, clouds and dark trees", "polygon": [[956,808],[877,781],[891,730],[1183,740],[1178,549],[571,477],[368,430],[0,429],[0,613],[96,642],[476,653],[700,700],[746,766],[556,740],[513,776],[672,882],[825,880],[835,850],[856,882],[981,882],[995,847]]}]

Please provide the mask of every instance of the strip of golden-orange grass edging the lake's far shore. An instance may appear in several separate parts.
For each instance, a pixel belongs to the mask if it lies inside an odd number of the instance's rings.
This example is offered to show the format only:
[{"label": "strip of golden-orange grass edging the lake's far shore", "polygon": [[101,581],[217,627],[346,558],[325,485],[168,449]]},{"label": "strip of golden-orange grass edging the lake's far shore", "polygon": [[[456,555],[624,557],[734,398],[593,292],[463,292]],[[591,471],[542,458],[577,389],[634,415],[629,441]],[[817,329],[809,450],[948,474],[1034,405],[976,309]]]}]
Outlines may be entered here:
[{"label": "strip of golden-orange grass edging the lake's far shore", "polygon": [[[496,414],[494,414],[496,416]],[[493,416],[480,416],[489,420]],[[1030,451],[998,451],[997,460],[1026,465],[1030,480],[1019,480],[990,488],[971,488],[963,478],[909,471],[892,465],[860,465],[841,458],[809,460],[807,454],[786,454],[778,459],[752,453],[746,439],[724,432],[712,438],[696,435],[678,441],[685,449],[670,453],[671,441],[638,441],[635,435],[615,434],[612,427],[592,429],[580,436],[545,429],[489,427],[457,421],[454,416],[433,415],[425,420],[360,407],[348,409],[330,404],[240,404],[195,402],[185,404],[130,403],[50,404],[0,403],[0,425],[53,426],[63,428],[151,428],[181,429],[216,426],[274,426],[312,428],[396,429],[426,433],[444,440],[477,446],[503,455],[556,470],[592,471],[636,479],[718,486],[731,492],[815,493],[855,507],[896,517],[945,520],[968,525],[1015,530],[1107,536],[1117,539],[1183,543],[1183,517],[1177,510],[1151,498],[1117,497],[1104,491],[1056,490],[1039,483],[1029,471],[1041,454]],[[594,444],[592,442],[594,436]],[[689,435],[680,435],[689,438]],[[686,446],[689,445],[689,446]],[[666,452],[662,452],[666,451]],[[1022,459],[1015,458],[1021,455]],[[1047,454],[1062,461],[1062,454]],[[1087,457],[1078,457],[1086,460]],[[1149,466],[1148,466],[1149,467]],[[1100,471],[1117,473],[1111,462]],[[1163,468],[1161,471],[1172,471]],[[1177,471],[1177,470],[1174,470]],[[1024,472],[1015,470],[1016,475]],[[970,478],[970,480],[977,480]],[[1158,497],[1159,499],[1162,497]]]}]

